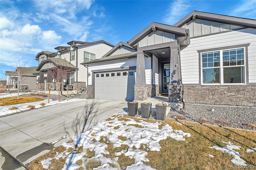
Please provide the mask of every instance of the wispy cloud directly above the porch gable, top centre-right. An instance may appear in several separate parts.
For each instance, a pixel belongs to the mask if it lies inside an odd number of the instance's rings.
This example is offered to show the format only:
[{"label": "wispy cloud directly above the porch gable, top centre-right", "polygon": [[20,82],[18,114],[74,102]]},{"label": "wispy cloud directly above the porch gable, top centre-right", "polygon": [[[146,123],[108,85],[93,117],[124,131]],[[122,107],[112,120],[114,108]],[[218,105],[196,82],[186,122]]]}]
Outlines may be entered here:
[{"label": "wispy cloud directly above the porch gable, top centre-right", "polygon": [[[163,21],[166,24],[174,25],[180,19],[188,14],[188,8],[190,4],[188,1],[176,0],[170,4],[167,10],[167,14],[164,16]],[[182,17],[182,18],[181,18]]]}]

